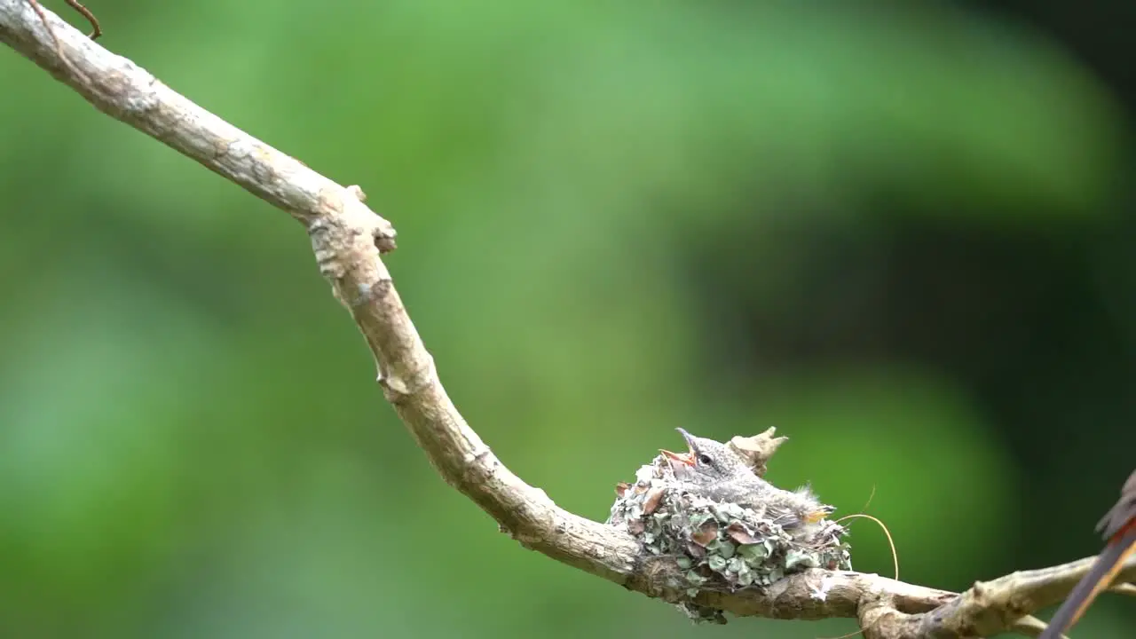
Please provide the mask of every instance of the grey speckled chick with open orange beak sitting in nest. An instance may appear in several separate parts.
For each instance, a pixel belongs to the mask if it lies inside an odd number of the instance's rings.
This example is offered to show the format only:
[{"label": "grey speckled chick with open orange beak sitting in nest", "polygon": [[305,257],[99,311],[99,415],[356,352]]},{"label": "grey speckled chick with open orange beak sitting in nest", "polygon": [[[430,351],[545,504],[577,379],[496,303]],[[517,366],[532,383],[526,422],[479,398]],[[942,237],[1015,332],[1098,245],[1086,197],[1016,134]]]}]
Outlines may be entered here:
[{"label": "grey speckled chick with open orange beak sitting in nest", "polygon": [[813,524],[834,511],[808,487],[783,490],[759,478],[746,459],[725,443],[677,430],[690,450],[660,453],[667,456],[675,479],[686,484],[687,492],[751,508],[797,538],[811,536]]}]

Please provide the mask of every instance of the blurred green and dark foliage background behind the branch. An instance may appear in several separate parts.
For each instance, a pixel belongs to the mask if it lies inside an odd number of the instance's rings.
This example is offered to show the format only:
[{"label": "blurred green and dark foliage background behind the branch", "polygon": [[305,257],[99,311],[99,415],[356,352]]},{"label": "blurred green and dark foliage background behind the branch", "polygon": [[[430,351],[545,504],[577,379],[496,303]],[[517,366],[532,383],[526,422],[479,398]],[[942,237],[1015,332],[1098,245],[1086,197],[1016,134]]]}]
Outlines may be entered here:
[{"label": "blurred green and dark foliage background behind the branch", "polygon": [[[872,496],[904,580],[1097,550],[1136,457],[1130,8],[89,6],[367,191],[454,401],[561,506],[604,518],[676,426],[776,425],[769,478]],[[524,550],[415,448],[285,214],[10,50],[0,122],[0,636],[855,630],[693,626]],[[1075,637],[1134,624],[1105,596]]]}]

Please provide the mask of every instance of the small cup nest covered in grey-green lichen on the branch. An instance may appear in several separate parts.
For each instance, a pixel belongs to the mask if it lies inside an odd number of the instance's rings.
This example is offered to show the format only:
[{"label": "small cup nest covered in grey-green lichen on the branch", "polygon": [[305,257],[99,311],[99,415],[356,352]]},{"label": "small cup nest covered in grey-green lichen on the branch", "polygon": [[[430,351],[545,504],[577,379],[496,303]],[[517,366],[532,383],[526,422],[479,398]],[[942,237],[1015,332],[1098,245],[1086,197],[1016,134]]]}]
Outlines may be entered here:
[{"label": "small cup nest covered in grey-green lichen on the branch", "polygon": [[[712,441],[683,433],[688,442]],[[785,441],[772,433],[769,429],[753,438],[734,438],[725,446],[745,460],[745,472],[760,478],[769,456]],[[688,457],[661,454],[638,470],[635,483],[620,483],[607,522],[637,538],[646,553],[674,558],[680,578],[673,588],[693,598],[704,590],[765,588],[810,567],[852,569],[850,547],[842,540],[844,526],[822,516],[807,524],[786,521],[778,511],[784,500],[815,499],[808,488],[785,491],[766,484],[768,490],[744,506],[716,499],[686,476],[685,464],[695,465],[695,446],[691,443]],[[832,509],[821,507],[824,514]],[[695,621],[725,623],[720,611],[690,601],[679,607]]]}]

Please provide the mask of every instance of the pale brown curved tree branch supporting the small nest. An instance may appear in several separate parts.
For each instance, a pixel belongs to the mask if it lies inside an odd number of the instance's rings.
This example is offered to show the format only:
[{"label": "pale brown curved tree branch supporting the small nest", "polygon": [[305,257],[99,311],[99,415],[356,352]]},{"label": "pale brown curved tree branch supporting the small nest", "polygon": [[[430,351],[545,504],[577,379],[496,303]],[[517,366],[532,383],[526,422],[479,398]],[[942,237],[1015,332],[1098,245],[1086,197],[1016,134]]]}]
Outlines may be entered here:
[{"label": "pale brown curved tree branch supporting the small nest", "polygon": [[[644,554],[636,539],[615,526],[559,508],[543,490],[501,464],[469,428],[442,388],[434,360],[379,258],[394,249],[394,227],[362,204],[357,186],[344,188],[227,124],[44,13],[55,39],[26,0],[0,0],[0,41],[99,110],[287,211],[304,226],[320,273],[375,357],[384,396],[450,486],[526,548],[650,597],[683,600],[685,594],[668,586],[677,570],[670,559]],[[879,639],[961,639],[1005,630],[1036,634],[1044,624],[1028,615],[1062,599],[1091,562],[1010,574],[976,583],[961,595],[875,574],[813,569],[767,589],[701,592],[694,603],[742,616],[853,617],[867,637]],[[1134,580],[1136,558],[1128,561],[1117,583]]]}]

